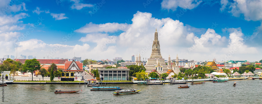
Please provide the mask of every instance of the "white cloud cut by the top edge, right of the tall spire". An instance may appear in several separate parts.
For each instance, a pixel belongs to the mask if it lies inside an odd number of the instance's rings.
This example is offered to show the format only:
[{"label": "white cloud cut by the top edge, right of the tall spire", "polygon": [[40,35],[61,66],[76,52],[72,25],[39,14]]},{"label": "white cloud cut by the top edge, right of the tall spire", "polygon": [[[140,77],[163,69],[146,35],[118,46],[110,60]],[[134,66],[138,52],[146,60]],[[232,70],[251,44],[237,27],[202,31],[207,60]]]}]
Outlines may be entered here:
[{"label": "white cloud cut by the top edge, right of the tall spire", "polygon": [[173,11],[175,11],[177,7],[181,7],[183,9],[193,9],[201,2],[201,0],[163,0],[161,7],[162,9],[171,9]]}]

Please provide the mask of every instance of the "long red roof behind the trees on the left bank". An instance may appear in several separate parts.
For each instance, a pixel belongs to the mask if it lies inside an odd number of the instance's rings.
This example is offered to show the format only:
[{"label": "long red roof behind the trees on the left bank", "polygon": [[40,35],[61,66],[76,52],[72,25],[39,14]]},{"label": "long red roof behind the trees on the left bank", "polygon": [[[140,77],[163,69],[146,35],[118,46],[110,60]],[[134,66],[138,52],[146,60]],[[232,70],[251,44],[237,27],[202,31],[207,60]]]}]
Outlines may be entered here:
[{"label": "long red roof behind the trees on the left bank", "polygon": [[[16,59],[15,61],[20,61],[21,63],[25,63],[28,59]],[[68,59],[37,59],[40,64],[64,64]]]}]

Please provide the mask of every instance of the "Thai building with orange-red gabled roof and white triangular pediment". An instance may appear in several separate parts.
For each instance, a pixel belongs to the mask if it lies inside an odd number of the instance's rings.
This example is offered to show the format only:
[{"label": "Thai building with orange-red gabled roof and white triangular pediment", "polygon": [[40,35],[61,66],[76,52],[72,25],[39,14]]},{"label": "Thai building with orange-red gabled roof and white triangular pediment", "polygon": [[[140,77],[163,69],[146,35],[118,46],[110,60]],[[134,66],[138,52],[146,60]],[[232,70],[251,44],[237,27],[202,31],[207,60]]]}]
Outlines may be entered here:
[{"label": "Thai building with orange-red gabled roof and white triangular pediment", "polygon": [[[80,63],[80,61],[75,60],[66,61],[63,72],[70,73],[70,77],[82,76],[82,72],[84,72],[83,63]],[[71,76],[71,73],[74,73],[74,76]]]}]

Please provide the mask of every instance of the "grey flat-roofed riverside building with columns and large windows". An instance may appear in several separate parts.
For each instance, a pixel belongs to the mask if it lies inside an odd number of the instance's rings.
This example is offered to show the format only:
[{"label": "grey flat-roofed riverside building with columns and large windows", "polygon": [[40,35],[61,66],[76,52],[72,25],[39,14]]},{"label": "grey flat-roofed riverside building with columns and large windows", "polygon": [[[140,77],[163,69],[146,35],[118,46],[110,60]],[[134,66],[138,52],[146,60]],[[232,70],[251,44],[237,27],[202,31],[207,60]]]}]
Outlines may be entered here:
[{"label": "grey flat-roofed riverside building with columns and large windows", "polygon": [[125,81],[129,77],[129,69],[127,68],[99,68],[98,71],[100,79],[106,81]]}]

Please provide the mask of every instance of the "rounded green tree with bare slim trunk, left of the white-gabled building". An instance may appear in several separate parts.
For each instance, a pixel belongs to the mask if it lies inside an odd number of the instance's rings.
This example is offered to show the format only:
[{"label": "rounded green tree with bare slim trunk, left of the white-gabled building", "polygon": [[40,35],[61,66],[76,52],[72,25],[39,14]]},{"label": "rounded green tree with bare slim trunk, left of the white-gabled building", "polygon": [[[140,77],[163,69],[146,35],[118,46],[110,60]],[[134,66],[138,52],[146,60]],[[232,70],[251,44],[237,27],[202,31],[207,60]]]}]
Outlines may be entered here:
[{"label": "rounded green tree with bare slim trunk, left of the white-gabled building", "polygon": [[34,71],[36,70],[40,70],[41,64],[39,63],[39,61],[37,61],[37,59],[29,59],[25,61],[25,64],[23,66],[23,70],[24,72],[30,72],[32,74],[32,80],[33,80],[33,74]]}]

